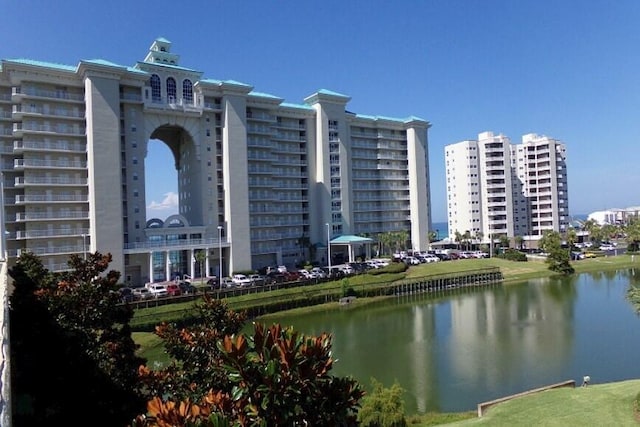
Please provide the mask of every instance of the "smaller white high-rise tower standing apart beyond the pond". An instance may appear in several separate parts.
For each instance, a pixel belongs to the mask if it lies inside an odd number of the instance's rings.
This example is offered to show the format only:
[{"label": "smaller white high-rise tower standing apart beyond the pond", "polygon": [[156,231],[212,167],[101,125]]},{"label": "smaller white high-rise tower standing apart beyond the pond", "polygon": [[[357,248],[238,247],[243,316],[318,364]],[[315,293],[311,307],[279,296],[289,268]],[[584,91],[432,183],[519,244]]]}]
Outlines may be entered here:
[{"label": "smaller white high-rise tower standing apart beyond the pond", "polygon": [[528,134],[521,144],[483,132],[445,147],[449,237],[537,240],[569,224],[566,148]]}]

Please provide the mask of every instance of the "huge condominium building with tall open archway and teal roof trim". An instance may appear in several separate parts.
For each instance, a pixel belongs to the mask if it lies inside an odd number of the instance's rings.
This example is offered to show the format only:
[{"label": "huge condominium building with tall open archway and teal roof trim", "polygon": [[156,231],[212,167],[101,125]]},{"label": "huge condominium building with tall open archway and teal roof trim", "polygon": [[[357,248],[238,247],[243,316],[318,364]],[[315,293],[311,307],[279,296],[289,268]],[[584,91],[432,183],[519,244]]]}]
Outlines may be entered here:
[{"label": "huge condominium building with tall open archway and teal roof trim", "polygon": [[[100,251],[142,283],[321,261],[345,235],[406,231],[426,248],[429,123],[354,114],[349,100],[319,90],[292,104],[204,78],[162,38],[131,67],[3,60],[9,260],[30,251],[60,271]],[[175,163],[169,218],[146,217],[150,140]]]}]

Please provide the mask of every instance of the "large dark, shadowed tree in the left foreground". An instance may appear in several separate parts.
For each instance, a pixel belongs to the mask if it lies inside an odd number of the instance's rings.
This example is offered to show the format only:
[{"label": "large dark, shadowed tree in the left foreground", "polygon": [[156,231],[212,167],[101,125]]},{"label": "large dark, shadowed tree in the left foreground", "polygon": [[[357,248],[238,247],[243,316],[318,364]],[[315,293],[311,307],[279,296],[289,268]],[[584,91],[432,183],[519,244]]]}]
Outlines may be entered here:
[{"label": "large dark, shadowed tree in the left foreground", "polygon": [[126,425],[144,408],[120,274],[111,255],[72,255],[71,271],[51,273],[22,254],[9,274],[13,425],[68,425],[78,411],[91,425]]}]

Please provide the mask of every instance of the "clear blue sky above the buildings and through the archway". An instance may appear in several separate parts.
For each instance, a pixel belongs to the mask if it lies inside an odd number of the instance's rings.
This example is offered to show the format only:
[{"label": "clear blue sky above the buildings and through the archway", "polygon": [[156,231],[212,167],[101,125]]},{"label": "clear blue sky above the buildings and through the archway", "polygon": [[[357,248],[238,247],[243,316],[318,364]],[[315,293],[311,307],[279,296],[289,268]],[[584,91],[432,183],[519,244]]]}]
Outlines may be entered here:
[{"label": "clear blue sky above the buildings and through the archway", "polygon": [[[359,114],[432,123],[432,214],[446,219],[444,146],[478,133],[567,145],[572,214],[640,205],[640,1],[0,0],[0,58],[180,64],[301,103],[326,88]],[[171,203],[168,151],[147,202]],[[175,178],[175,177],[173,177]],[[169,195],[168,197],[166,197]],[[166,200],[165,200],[166,198]],[[160,211],[154,211],[160,212]],[[160,216],[160,215],[158,215]]]}]

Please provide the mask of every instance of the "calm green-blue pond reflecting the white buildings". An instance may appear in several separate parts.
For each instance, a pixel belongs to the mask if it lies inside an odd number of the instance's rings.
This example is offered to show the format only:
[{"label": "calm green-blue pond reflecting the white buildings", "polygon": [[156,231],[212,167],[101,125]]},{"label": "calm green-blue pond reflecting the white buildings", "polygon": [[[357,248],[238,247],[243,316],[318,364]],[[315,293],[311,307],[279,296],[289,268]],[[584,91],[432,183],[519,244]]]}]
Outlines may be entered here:
[{"label": "calm green-blue pond reflecting the white buildings", "polygon": [[[637,274],[637,276],[636,276]],[[334,375],[406,390],[407,413],[480,402],[584,375],[640,377],[640,320],[625,299],[640,270],[405,296],[277,322],[333,334]]]}]

